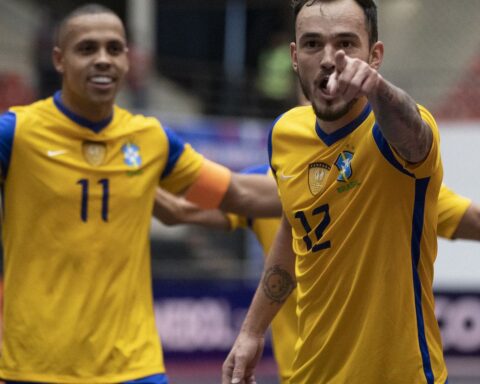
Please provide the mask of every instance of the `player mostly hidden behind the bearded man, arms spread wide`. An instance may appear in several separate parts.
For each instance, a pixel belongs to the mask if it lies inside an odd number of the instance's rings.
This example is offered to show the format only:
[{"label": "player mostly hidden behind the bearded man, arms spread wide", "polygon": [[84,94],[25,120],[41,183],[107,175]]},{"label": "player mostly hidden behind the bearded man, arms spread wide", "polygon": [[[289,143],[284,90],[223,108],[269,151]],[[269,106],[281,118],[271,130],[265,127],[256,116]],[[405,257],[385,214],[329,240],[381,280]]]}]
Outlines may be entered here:
[{"label": "player mostly hidden behind the bearded man, arms spread wide", "polygon": [[[245,172],[272,176],[271,169],[266,164],[248,168]],[[157,188],[153,212],[166,225],[194,224],[229,231],[248,228],[255,234],[265,257],[270,252],[280,224],[280,217],[246,218],[220,210],[203,210],[161,188]],[[438,195],[437,215],[439,237],[480,241],[480,205],[455,193],[444,184]],[[281,384],[289,383],[292,375],[294,347],[298,339],[296,296],[296,291],[293,291],[271,323],[272,348]]]}]

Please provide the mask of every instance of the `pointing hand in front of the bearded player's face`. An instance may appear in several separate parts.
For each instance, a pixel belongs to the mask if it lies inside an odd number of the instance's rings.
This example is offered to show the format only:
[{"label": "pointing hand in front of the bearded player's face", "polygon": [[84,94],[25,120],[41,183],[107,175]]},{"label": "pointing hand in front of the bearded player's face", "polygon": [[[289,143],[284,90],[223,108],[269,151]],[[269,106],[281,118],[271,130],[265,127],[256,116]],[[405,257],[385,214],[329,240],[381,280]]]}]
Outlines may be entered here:
[{"label": "pointing hand in front of the bearded player's face", "polygon": [[344,51],[335,53],[335,72],[329,77],[327,90],[346,102],[375,91],[382,76],[367,62],[348,57]]}]

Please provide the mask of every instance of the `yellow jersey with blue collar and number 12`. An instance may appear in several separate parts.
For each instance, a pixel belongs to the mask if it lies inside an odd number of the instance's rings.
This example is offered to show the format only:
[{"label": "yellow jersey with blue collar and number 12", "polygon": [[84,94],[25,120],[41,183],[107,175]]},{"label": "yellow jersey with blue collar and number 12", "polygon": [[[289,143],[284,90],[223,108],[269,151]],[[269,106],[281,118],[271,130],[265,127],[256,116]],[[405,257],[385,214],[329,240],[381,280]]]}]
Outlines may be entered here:
[{"label": "yellow jersey with blue collar and number 12", "polygon": [[281,116],[270,164],[296,254],[299,338],[292,384],[444,384],[434,315],[439,135],[411,165],[369,105],[326,134],[310,106]]}]

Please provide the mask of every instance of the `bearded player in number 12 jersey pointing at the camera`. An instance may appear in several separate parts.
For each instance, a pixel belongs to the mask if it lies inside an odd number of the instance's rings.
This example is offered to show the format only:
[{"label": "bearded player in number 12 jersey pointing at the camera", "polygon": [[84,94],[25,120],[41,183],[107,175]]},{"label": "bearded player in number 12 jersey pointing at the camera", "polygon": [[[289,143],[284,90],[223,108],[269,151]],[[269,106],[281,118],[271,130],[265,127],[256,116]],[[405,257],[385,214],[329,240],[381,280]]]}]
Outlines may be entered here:
[{"label": "bearded player in number 12 jersey pointing at the camera", "polygon": [[294,13],[292,63],[312,106],[270,132],[284,213],[222,382],[255,381],[264,332],[297,286],[290,383],[444,384],[435,120],[379,74],[373,0],[297,0]]}]

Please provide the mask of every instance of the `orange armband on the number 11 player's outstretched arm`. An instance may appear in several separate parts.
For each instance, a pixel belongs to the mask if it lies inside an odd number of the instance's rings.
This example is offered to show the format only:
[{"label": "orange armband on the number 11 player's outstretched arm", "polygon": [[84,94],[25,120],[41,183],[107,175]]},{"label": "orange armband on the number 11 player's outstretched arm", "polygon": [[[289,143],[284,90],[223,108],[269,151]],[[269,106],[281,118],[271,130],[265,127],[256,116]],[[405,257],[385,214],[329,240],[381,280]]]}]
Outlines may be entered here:
[{"label": "orange armband on the number 11 player's outstretched arm", "polygon": [[227,192],[232,172],[223,165],[205,159],[197,179],[185,193],[185,198],[203,209],[218,208]]}]

